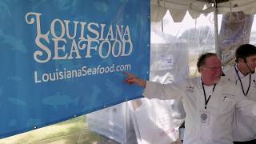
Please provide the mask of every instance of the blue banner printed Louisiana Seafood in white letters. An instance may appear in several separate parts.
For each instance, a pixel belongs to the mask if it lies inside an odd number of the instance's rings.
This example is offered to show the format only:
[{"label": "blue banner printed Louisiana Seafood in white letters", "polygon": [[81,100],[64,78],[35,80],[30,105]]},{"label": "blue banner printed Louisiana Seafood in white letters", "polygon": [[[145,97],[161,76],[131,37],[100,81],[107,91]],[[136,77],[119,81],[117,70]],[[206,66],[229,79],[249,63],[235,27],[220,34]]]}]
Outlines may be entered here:
[{"label": "blue banner printed Louisiana Seafood in white letters", "polygon": [[2,0],[0,138],[141,98],[150,0]]}]

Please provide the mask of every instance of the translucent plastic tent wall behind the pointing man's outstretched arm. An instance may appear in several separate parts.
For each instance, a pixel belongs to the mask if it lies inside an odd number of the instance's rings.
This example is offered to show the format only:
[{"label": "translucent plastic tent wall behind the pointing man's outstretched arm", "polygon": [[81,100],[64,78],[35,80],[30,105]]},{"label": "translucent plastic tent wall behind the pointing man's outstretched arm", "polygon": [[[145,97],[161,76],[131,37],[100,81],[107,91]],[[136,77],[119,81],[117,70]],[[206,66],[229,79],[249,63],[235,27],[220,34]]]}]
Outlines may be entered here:
[{"label": "translucent plastic tent wall behind the pointing man's outstretched arm", "polygon": [[[169,11],[168,11],[169,13]],[[214,15],[174,22],[170,14],[151,22],[150,81],[171,83],[197,75],[198,54],[215,52]],[[127,104],[128,103],[128,104]],[[186,114],[178,100],[140,98],[87,115],[90,130],[120,143],[179,142]]]}]

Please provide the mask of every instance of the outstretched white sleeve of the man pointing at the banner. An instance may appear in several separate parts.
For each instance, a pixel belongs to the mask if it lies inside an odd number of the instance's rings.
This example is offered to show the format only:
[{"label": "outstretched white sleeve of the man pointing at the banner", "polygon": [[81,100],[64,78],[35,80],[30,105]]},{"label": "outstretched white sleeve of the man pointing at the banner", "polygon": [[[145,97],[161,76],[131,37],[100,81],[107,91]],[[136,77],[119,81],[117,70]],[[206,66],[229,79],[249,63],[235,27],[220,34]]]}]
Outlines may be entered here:
[{"label": "outstretched white sleeve of the man pointing at the banner", "polygon": [[173,84],[161,84],[158,82],[146,82],[146,88],[144,90],[144,95],[146,98],[158,98],[161,100],[166,99],[181,99],[184,95],[182,90],[182,85],[178,83]]}]

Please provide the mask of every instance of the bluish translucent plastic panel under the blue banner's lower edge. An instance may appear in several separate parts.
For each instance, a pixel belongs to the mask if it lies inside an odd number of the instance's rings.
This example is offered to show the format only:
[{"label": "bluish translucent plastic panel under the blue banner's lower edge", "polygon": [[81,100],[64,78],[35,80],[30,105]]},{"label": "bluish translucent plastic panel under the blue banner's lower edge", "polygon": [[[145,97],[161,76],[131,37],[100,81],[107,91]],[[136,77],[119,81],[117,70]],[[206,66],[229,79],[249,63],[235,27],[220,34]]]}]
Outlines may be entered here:
[{"label": "bluish translucent plastic panel under the blue banner's lower edge", "polygon": [[118,143],[134,144],[136,136],[127,102],[86,115],[89,130]]}]

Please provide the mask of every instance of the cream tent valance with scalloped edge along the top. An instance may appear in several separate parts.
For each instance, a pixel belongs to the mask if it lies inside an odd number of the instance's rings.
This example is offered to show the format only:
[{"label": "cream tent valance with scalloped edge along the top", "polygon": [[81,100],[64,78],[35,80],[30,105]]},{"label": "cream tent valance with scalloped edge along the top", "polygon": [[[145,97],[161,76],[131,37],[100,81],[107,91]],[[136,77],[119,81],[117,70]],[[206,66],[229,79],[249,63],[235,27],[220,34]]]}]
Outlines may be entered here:
[{"label": "cream tent valance with scalloped edge along the top", "polygon": [[[182,22],[186,11],[192,18],[214,11],[214,0],[151,0],[151,21],[159,22],[169,10],[174,22]],[[216,0],[218,14],[243,11],[256,13],[256,0]]]}]

